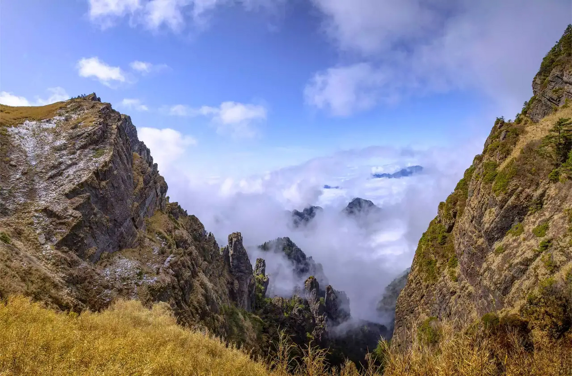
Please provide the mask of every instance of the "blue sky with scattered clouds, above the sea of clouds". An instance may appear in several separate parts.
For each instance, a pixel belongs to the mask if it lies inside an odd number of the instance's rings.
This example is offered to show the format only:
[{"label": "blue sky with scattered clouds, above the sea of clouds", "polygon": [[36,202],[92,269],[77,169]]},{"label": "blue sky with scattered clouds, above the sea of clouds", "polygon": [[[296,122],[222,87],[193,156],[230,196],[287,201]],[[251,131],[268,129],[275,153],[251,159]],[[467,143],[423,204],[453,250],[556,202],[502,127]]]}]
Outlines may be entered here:
[{"label": "blue sky with scattered clouds, above the sea of clouds", "polygon": [[[96,92],[138,128],[180,132],[182,159],[260,173],[341,149],[482,140],[530,97],[569,16],[567,1],[3,2],[0,84],[32,104],[49,88]],[[93,58],[104,72],[82,77]],[[105,68],[118,76],[98,79]],[[223,102],[239,113],[221,120]]]}]

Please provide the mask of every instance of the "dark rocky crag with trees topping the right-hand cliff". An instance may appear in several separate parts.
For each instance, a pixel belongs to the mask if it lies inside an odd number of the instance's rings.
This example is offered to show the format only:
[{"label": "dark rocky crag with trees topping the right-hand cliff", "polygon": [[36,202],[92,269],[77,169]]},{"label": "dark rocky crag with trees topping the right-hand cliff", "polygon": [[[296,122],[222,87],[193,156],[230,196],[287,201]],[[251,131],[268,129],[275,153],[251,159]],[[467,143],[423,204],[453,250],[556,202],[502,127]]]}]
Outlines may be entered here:
[{"label": "dark rocky crag with trees topping the right-hand cliff", "polygon": [[555,108],[572,100],[572,73],[568,69],[572,56],[572,28],[546,54],[533,80],[533,97],[525,104],[524,114],[539,121]]}]

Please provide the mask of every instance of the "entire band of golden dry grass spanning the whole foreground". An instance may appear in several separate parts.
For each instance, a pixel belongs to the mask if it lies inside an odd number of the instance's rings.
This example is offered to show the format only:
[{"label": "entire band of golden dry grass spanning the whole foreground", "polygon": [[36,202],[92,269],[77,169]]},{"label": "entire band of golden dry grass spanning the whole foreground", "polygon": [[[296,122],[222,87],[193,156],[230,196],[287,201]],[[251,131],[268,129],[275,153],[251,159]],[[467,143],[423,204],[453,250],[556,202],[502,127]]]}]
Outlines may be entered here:
[{"label": "entire band of golden dry grass spanning the whole foreground", "polygon": [[[483,331],[459,333],[451,327],[430,331],[431,341],[416,335],[405,351],[381,343],[377,360],[361,375],[571,375],[570,338],[534,339],[534,350],[526,350],[530,344],[516,334],[495,342]],[[284,376],[290,370],[297,376],[360,376],[350,362],[328,370],[324,351],[309,349],[296,360],[289,356],[287,338],[277,346],[271,364],[253,361],[216,338],[177,326],[164,304],[147,310],[122,301],[78,316],[21,296],[0,303],[0,375]]]}]

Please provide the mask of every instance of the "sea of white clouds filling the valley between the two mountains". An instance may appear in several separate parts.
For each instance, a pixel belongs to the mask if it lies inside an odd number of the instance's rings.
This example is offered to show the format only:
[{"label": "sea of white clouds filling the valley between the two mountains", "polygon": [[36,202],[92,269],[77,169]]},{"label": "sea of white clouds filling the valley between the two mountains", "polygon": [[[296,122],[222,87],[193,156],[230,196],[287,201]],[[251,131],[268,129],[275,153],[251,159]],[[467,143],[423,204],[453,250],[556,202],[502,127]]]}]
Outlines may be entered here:
[{"label": "sea of white clouds filling the valley between the two mountains", "polygon": [[[198,180],[176,169],[163,173],[171,201],[196,215],[221,246],[227,244],[229,233],[243,234],[252,264],[257,257],[266,260],[277,294],[289,295],[303,281],[296,280],[283,255],[256,246],[289,236],[307,256],[323,265],[334,288],[347,293],[353,317],[383,322],[375,307],[384,288],[411,266],[419,238],[435,217],[437,205],[452,192],[482,148],[478,144],[423,150],[370,147],[241,179]],[[400,179],[371,176],[411,165],[422,165],[423,171]],[[341,215],[354,197],[382,208],[375,224],[364,227]],[[324,210],[308,228],[293,228],[288,211],[301,211],[309,205]]]}]

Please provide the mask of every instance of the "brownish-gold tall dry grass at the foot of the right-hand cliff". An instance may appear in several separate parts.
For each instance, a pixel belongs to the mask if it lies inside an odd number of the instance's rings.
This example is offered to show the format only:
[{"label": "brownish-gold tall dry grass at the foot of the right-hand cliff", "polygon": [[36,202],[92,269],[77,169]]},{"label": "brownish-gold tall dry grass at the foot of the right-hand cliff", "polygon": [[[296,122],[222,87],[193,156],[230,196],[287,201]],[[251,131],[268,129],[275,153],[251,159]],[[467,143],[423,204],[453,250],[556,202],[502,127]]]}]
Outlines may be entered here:
[{"label": "brownish-gold tall dry grass at the foot of the right-hand cliff", "polygon": [[387,363],[383,376],[572,375],[570,337],[556,342],[537,333],[532,343],[525,344],[516,332],[494,336],[483,330],[458,331],[454,327],[441,324],[439,341],[433,345],[417,336],[405,351],[382,343]]}]

